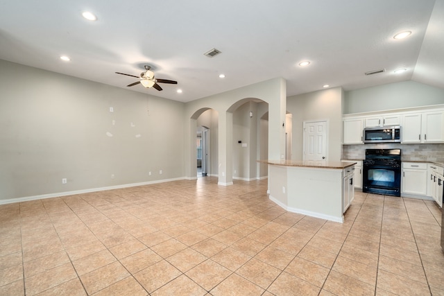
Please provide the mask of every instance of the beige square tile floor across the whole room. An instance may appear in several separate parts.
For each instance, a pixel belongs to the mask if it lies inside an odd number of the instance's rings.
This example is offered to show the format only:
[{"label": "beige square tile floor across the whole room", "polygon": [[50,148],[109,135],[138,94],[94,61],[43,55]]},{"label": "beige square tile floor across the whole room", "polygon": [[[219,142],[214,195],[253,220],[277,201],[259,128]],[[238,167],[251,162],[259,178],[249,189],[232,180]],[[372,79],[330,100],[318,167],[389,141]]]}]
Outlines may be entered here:
[{"label": "beige square tile floor across the whole room", "polygon": [[355,193],[345,223],[214,177],[0,206],[0,295],[444,295],[434,202]]}]

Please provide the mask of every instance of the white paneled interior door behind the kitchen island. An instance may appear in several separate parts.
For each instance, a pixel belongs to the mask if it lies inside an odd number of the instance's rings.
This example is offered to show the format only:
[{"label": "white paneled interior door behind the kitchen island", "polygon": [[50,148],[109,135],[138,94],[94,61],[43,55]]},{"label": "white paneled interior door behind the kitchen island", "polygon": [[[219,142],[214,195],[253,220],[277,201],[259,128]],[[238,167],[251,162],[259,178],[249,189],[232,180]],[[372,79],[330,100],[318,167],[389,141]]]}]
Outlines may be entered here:
[{"label": "white paneled interior door behind the kitchen island", "polygon": [[327,160],[327,121],[304,122],[303,159]]}]

